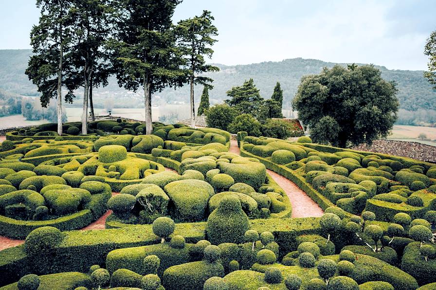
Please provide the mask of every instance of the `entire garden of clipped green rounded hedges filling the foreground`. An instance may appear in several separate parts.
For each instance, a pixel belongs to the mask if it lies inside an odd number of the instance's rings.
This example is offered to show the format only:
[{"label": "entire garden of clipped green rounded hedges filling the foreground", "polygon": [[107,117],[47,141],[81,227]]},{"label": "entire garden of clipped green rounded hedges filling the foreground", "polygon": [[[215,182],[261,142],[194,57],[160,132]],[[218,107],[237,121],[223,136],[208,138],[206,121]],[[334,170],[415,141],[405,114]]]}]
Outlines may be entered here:
[{"label": "entire garden of clipped green rounded hedges filling the foreground", "polygon": [[[0,146],[1,290],[429,290],[436,166],[185,125],[44,124]],[[171,169],[167,171],[165,168]],[[291,218],[291,192],[321,218]],[[113,193],[114,192],[114,193]],[[111,210],[104,230],[79,230]]]}]

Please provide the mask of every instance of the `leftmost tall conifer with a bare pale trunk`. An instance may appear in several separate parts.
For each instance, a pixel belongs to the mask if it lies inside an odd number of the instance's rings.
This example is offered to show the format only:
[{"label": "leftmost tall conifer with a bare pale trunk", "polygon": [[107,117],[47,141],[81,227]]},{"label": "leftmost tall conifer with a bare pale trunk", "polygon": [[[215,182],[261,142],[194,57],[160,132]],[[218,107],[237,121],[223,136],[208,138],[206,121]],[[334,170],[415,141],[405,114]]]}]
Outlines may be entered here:
[{"label": "leftmost tall conifer with a bare pale trunk", "polygon": [[66,87],[66,102],[73,101],[71,55],[72,17],[71,0],[37,0],[41,9],[39,23],[30,33],[33,55],[30,57],[26,75],[38,87],[40,101],[47,107],[52,98],[57,99],[57,133],[62,134],[62,87]]}]

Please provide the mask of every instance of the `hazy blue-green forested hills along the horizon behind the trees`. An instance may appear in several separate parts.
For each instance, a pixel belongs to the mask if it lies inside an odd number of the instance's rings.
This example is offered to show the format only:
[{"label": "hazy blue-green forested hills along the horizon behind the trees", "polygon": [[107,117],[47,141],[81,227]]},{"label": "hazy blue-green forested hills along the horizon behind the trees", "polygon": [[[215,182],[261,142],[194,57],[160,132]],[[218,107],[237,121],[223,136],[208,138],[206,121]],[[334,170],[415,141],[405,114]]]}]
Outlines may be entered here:
[{"label": "hazy blue-green forested hills along the horizon behind the trees", "polygon": [[[38,96],[36,87],[24,74],[27,61],[32,51],[30,50],[0,50],[0,89],[23,95]],[[208,73],[213,78],[214,89],[209,92],[211,103],[222,102],[227,98],[225,92],[232,86],[241,85],[244,80],[253,78],[261,95],[268,99],[273,93],[276,82],[280,82],[284,91],[284,107],[289,106],[295,95],[297,86],[303,75],[319,73],[323,67],[331,68],[335,64],[315,59],[286,59],[280,62],[263,62],[251,65],[225,66],[216,65],[219,72]],[[345,65],[345,64],[342,64]],[[395,80],[398,83],[401,108],[406,110],[435,109],[436,91],[422,76],[420,70],[390,70],[377,66],[382,71],[382,77],[386,80]],[[196,99],[200,99],[201,87],[196,88]],[[81,105],[81,92],[77,94],[75,106]],[[114,107],[120,100],[122,105],[129,104],[131,107],[142,106],[142,96],[120,88],[116,80],[112,78],[109,85],[99,88],[94,93],[96,106],[103,106],[108,97],[113,97]],[[167,88],[154,96],[154,102],[159,103],[188,103],[189,87],[184,86],[174,90]]]}]

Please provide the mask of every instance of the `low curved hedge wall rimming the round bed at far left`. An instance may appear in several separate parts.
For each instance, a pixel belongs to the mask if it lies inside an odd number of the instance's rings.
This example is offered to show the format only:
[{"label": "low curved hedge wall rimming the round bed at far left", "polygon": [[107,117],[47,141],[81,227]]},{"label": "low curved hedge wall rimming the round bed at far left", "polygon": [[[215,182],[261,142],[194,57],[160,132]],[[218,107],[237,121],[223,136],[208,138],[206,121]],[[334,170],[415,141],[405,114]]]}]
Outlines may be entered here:
[{"label": "low curved hedge wall rimming the round bed at far left", "polygon": [[106,212],[106,204],[110,196],[111,193],[93,194],[90,208],[53,220],[21,221],[0,215],[0,235],[13,239],[24,239],[31,231],[42,226],[54,226],[61,231],[83,228]]}]

